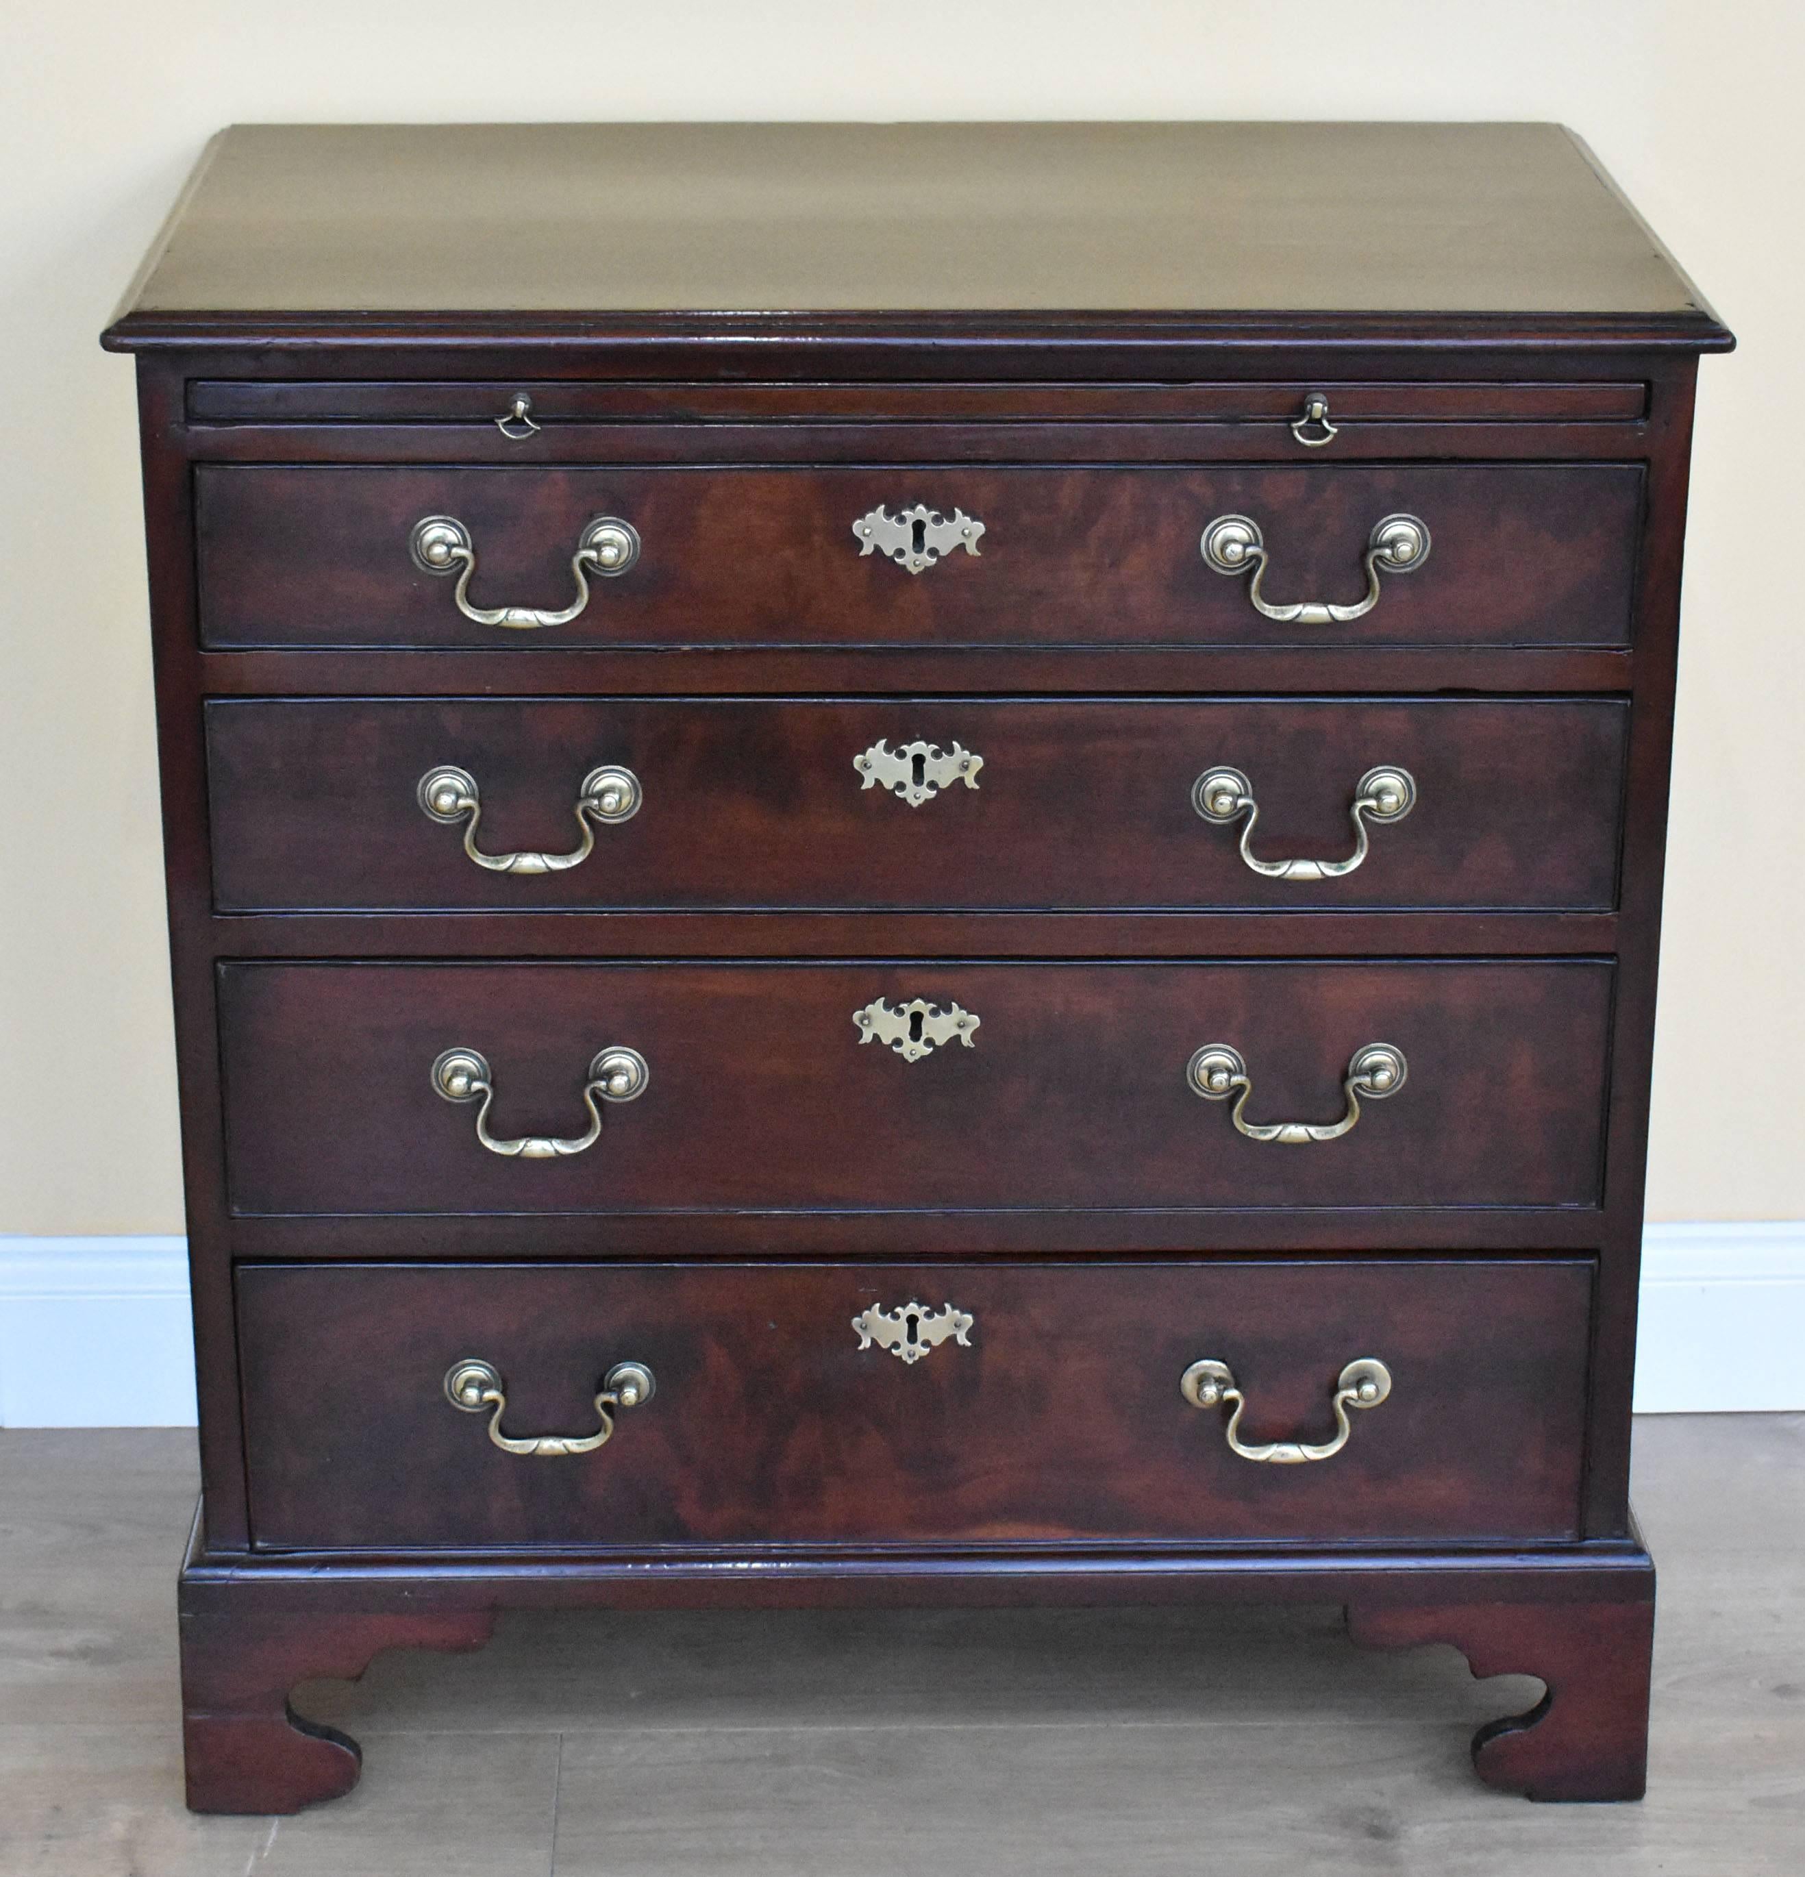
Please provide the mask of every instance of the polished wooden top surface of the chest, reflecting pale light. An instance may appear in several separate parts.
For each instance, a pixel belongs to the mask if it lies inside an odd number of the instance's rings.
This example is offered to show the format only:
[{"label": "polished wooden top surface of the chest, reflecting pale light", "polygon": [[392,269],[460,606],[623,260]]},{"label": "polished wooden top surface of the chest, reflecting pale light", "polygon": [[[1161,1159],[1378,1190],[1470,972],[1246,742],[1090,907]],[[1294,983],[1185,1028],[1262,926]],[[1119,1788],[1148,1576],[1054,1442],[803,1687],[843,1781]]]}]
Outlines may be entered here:
[{"label": "polished wooden top surface of the chest, reflecting pale light", "polygon": [[109,338],[946,312],[1721,334],[1555,124],[255,124],[208,145]]}]

